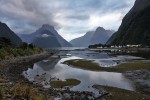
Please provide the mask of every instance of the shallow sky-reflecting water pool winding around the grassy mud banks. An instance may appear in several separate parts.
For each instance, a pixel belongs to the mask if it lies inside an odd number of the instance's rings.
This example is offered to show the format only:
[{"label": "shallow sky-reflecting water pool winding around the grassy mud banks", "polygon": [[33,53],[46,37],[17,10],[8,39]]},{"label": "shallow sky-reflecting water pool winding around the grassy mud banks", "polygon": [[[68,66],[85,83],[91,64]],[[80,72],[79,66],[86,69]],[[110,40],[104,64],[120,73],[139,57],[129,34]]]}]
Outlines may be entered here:
[{"label": "shallow sky-reflecting water pool winding around the grassy mud banks", "polygon": [[50,80],[65,80],[68,78],[73,78],[81,81],[79,85],[71,88],[71,90],[75,91],[94,92],[96,91],[92,88],[92,85],[94,84],[134,90],[133,84],[126,79],[122,73],[88,71],[63,64],[64,61],[71,59],[93,59],[95,61],[102,62],[105,65],[116,64],[115,60],[118,61],[118,58],[111,57],[105,52],[71,50],[61,51],[57,55],[62,57],[52,59],[49,58],[37,62],[34,64],[33,68],[29,68],[27,71],[23,72],[24,76],[33,83],[42,84],[45,88],[50,87]]}]

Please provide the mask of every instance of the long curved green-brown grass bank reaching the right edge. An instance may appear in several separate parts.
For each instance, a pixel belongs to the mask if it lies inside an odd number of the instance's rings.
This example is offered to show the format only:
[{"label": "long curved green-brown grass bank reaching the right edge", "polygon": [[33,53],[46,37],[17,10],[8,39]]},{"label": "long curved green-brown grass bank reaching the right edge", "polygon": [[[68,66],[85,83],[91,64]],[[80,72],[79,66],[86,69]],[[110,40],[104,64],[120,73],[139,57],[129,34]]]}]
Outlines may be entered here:
[{"label": "long curved green-brown grass bank reaching the right edge", "polygon": [[128,63],[122,63],[115,67],[101,67],[91,60],[75,59],[63,62],[72,67],[81,68],[91,71],[108,71],[108,72],[123,72],[131,70],[149,69],[150,61],[133,61]]}]

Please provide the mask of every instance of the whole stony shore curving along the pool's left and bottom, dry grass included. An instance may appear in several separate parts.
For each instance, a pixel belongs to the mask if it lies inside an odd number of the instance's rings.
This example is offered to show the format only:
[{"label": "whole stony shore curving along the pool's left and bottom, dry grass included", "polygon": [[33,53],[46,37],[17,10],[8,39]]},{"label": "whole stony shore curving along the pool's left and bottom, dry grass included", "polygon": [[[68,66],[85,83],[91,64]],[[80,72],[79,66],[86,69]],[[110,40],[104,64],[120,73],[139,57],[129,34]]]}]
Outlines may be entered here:
[{"label": "whole stony shore curving along the pool's left and bottom, dry grass included", "polygon": [[[94,94],[90,92],[45,89],[43,86],[33,84],[25,79],[22,75],[24,70],[32,67],[35,62],[50,57],[52,54],[51,52],[42,52],[36,55],[0,61],[0,65],[3,65],[0,66],[0,100],[49,100],[42,99],[41,95],[50,98],[50,100],[62,98],[65,98],[65,100],[88,100],[89,98],[94,98]],[[27,91],[31,92],[28,94]],[[38,96],[40,96],[40,99],[31,98]]]}]

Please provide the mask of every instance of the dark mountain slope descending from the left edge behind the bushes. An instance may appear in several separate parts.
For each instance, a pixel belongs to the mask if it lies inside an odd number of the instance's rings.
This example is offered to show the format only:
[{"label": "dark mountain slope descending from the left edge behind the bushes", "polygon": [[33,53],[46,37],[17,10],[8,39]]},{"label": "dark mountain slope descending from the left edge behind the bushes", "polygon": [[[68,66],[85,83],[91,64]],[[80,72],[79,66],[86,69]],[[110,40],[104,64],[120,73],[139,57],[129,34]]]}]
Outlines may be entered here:
[{"label": "dark mountain slope descending from the left edge behind the bushes", "polygon": [[5,24],[0,22],[0,38],[7,38],[13,45],[20,45],[22,40]]}]

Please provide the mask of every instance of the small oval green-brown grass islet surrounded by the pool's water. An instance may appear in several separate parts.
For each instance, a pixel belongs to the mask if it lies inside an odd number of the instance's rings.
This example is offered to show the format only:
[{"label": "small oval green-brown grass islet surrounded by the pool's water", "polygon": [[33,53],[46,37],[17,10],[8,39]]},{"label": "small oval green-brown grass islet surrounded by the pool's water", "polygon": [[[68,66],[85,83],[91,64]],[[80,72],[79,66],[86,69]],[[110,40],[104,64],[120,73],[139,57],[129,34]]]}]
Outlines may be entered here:
[{"label": "small oval green-brown grass islet surrounded by the pool's water", "polygon": [[76,86],[79,85],[81,81],[77,79],[66,79],[66,81],[52,81],[50,85],[54,88],[61,88],[64,86]]}]

